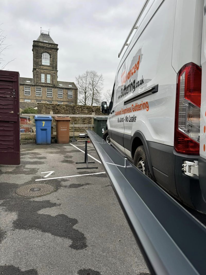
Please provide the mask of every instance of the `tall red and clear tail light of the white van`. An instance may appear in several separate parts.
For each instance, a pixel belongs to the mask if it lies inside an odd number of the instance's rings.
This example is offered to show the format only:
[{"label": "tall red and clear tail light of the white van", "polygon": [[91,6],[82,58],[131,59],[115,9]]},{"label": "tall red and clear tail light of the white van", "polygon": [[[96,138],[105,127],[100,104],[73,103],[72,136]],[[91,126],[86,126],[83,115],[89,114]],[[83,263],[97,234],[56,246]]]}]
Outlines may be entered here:
[{"label": "tall red and clear tail light of the white van", "polygon": [[199,155],[202,69],[186,64],[177,75],[174,148],[178,153]]}]

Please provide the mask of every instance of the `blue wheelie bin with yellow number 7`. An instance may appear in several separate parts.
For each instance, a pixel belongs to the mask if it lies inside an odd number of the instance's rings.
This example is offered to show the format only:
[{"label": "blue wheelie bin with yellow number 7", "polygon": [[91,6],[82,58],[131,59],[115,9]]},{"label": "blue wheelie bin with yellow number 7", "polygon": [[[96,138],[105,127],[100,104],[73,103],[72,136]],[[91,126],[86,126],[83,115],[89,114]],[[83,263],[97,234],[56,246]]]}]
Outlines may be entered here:
[{"label": "blue wheelie bin with yellow number 7", "polygon": [[35,116],[36,144],[51,144],[51,116]]}]

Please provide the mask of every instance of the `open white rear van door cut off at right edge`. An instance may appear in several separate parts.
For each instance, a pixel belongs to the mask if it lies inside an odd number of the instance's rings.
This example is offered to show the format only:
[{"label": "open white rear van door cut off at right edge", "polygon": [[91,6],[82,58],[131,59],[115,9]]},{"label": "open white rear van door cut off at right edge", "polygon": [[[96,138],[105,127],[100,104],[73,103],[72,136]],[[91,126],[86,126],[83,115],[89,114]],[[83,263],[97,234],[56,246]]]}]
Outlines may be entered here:
[{"label": "open white rear van door cut off at right edge", "polygon": [[201,92],[201,111],[200,111],[200,158],[199,158],[199,182],[204,200],[206,201],[206,0],[203,7],[202,25],[202,47],[201,47],[201,66],[202,66],[202,92]]}]

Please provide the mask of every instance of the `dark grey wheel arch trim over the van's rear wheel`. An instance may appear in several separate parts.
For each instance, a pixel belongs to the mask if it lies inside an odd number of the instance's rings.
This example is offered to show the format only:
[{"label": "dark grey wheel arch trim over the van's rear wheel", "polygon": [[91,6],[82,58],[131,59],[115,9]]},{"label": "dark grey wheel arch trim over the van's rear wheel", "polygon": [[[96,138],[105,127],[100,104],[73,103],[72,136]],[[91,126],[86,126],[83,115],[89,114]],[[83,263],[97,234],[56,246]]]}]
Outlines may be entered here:
[{"label": "dark grey wheel arch trim over the van's rear wheel", "polygon": [[130,152],[131,152],[131,155],[132,155],[132,159],[134,158],[135,151],[136,151],[137,147],[139,147],[141,145],[144,146],[144,150],[145,150],[146,156],[147,156],[149,171],[150,171],[150,174],[151,174],[152,178],[155,180],[153,167],[152,167],[152,162],[151,162],[150,153],[149,153],[149,148],[147,146],[147,141],[146,141],[143,133],[141,133],[140,131],[137,131],[133,134],[133,137],[132,137],[132,140],[131,140]]}]

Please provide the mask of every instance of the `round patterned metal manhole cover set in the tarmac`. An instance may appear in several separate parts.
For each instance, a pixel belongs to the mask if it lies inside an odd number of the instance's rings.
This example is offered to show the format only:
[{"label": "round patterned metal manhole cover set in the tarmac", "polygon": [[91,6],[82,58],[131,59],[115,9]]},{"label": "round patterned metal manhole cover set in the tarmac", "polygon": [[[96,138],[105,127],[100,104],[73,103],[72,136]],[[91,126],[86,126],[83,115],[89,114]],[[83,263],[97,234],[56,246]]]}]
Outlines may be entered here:
[{"label": "round patterned metal manhole cover set in the tarmac", "polygon": [[53,192],[54,190],[55,188],[52,185],[34,183],[16,188],[16,194],[21,196],[43,196]]}]

